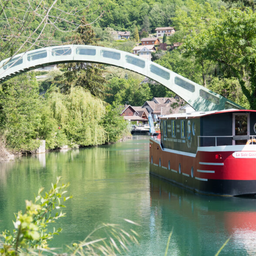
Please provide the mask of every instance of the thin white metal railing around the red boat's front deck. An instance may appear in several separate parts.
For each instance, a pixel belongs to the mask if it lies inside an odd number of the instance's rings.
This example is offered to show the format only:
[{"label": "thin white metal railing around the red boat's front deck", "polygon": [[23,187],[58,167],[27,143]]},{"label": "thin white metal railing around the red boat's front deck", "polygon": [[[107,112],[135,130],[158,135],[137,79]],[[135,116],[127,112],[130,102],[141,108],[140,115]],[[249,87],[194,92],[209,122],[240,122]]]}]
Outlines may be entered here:
[{"label": "thin white metal railing around the red boat's front deck", "polygon": [[[200,139],[202,138],[203,141]],[[236,135],[236,136],[197,136],[197,145],[201,147],[226,146],[226,145],[245,145],[248,140],[256,140],[255,135]],[[234,141],[237,141],[234,143]]]}]

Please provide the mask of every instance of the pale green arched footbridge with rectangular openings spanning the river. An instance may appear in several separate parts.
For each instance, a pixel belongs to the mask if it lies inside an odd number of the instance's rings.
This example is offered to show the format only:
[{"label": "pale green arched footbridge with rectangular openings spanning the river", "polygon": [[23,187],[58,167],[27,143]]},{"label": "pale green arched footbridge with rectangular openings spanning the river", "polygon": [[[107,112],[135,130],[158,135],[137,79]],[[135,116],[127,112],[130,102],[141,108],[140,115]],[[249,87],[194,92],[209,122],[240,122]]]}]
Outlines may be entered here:
[{"label": "pale green arched footbridge with rectangular openings spanning the river", "polygon": [[125,51],[91,45],[61,45],[18,54],[0,62],[0,83],[38,67],[67,62],[94,62],[142,74],[178,94],[196,111],[243,109],[215,92],[165,67]]}]

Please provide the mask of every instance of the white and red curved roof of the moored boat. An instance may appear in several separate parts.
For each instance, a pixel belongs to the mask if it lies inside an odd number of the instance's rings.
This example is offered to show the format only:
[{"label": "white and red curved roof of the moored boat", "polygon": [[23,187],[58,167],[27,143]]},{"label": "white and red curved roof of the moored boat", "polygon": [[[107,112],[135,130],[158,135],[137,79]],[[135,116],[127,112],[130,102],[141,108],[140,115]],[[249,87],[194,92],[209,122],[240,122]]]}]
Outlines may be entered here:
[{"label": "white and red curved roof of the moored boat", "polygon": [[160,119],[188,119],[188,118],[199,118],[206,115],[215,115],[227,112],[256,112],[256,110],[249,110],[249,109],[225,109],[225,110],[213,110],[213,111],[194,111],[189,113],[178,113],[178,114],[171,114],[165,115],[160,117]]}]

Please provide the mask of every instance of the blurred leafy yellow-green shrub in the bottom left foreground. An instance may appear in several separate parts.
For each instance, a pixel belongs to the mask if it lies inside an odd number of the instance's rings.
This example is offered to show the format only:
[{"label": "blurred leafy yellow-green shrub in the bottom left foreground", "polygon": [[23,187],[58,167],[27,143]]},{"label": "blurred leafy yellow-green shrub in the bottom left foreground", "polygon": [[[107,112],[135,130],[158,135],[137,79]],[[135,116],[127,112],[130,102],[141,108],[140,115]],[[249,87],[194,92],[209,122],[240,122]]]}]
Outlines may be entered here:
[{"label": "blurred leafy yellow-green shrub in the bottom left foreground", "polygon": [[[48,240],[61,232],[61,228],[47,232],[48,223],[65,216],[65,213],[58,210],[65,207],[62,198],[69,184],[61,184],[60,179],[57,177],[57,182],[52,184],[52,188],[45,195],[42,195],[44,189],[39,189],[34,203],[26,200],[25,213],[18,212],[16,220],[13,221],[13,234],[10,231],[3,232],[4,246],[0,249],[1,253],[5,251],[6,255],[13,255],[22,249],[47,248]],[[65,198],[65,201],[71,197]]]}]

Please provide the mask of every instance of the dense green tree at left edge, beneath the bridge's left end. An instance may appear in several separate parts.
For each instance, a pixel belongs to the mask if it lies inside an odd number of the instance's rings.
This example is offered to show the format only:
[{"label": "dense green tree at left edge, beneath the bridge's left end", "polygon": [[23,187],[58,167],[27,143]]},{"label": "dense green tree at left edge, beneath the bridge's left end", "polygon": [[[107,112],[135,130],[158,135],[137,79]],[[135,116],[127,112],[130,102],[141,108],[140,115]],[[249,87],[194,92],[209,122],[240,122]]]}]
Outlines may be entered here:
[{"label": "dense green tree at left edge, beneath the bridge's left end", "polygon": [[0,84],[0,135],[6,138],[7,148],[33,152],[39,147],[37,129],[41,111],[38,84],[33,73]]}]

